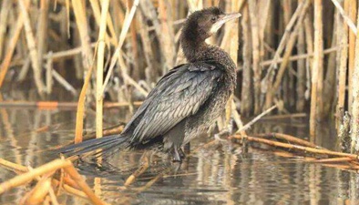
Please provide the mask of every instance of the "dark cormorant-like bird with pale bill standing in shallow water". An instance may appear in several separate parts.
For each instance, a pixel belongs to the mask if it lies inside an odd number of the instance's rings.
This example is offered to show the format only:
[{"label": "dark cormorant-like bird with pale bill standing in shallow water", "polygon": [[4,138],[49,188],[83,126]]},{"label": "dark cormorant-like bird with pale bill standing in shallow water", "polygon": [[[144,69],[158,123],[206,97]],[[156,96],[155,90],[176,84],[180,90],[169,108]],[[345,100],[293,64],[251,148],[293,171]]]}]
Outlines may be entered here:
[{"label": "dark cormorant-like bird with pale bill standing in shallow water", "polygon": [[231,57],[205,40],[241,14],[225,15],[218,7],[191,14],[182,28],[180,45],[188,63],[174,67],[129,120],[119,135],[70,145],[59,152],[80,155],[97,149],[106,155],[121,149],[159,149],[173,160],[182,147],[205,132],[218,118],[233,93],[236,67]]}]

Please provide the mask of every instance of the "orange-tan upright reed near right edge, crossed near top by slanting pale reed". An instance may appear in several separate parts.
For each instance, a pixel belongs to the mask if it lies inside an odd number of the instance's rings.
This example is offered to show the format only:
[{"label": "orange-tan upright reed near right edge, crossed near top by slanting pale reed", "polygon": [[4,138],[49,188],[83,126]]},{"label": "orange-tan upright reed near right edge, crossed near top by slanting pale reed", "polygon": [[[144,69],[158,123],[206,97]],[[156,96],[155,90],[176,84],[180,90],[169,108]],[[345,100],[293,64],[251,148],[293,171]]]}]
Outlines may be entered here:
[{"label": "orange-tan upright reed near right edge, crossed near top by slanting pale reed", "polygon": [[[357,12],[357,1],[350,0],[349,2],[350,7],[350,18],[353,22],[356,20],[356,12]],[[352,113],[352,98],[353,98],[353,73],[354,73],[354,66],[355,66],[355,41],[356,37],[353,32],[349,33],[349,64],[348,64],[348,110]]]}]

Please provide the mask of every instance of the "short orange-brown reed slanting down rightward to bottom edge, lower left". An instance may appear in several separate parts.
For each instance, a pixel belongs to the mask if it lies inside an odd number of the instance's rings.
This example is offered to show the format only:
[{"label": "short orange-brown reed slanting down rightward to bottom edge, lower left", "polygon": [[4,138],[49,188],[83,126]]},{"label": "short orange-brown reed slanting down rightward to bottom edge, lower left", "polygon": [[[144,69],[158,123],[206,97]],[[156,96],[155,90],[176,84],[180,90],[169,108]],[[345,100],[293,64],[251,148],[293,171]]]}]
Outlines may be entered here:
[{"label": "short orange-brown reed slanting down rightward to bottom edge, lower left", "polygon": [[67,172],[67,174],[70,175],[71,178],[76,181],[77,185],[86,193],[88,199],[91,200],[92,203],[96,205],[106,204],[105,202],[97,198],[97,196],[91,190],[91,188],[88,187],[86,181],[77,172],[77,169],[75,169],[74,166],[72,166],[72,163],[70,166],[67,166],[64,169]]}]

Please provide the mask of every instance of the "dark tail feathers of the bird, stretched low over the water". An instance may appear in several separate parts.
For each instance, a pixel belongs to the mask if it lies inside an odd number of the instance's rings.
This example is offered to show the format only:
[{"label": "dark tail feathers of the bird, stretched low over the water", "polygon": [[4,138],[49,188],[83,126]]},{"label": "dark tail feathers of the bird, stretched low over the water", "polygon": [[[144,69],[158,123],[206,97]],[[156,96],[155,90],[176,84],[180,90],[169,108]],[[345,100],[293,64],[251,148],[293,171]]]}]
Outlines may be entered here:
[{"label": "dark tail feathers of the bird, stretched low over the water", "polygon": [[126,136],[110,135],[103,138],[92,138],[84,142],[66,146],[57,149],[57,153],[63,153],[67,156],[82,155],[88,152],[94,152],[97,156],[109,155],[114,150],[127,149],[129,140]]}]

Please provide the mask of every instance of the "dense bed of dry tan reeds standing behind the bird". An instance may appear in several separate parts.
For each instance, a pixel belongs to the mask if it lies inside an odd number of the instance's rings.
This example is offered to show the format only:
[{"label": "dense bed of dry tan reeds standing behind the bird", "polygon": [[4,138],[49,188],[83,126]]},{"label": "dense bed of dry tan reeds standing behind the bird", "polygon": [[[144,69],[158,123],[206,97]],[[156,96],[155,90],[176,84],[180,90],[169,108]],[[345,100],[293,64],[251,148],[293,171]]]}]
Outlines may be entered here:
[{"label": "dense bed of dry tan reeds standing behind the bird", "polygon": [[[132,110],[134,100],[145,97],[159,77],[184,62],[179,36],[189,12],[218,2],[40,0],[35,4],[4,0],[0,8],[0,87],[4,90],[29,76],[40,97],[55,96],[53,86],[65,87],[75,96],[81,88],[77,109],[80,141],[86,97],[87,101],[97,98],[98,129],[104,91],[110,100],[128,103]],[[109,9],[104,9],[107,3]],[[236,105],[241,101],[242,116],[258,115],[283,103],[280,114],[310,113],[314,140],[318,122],[336,118],[338,128],[342,122],[339,110],[348,110],[353,118],[353,148],[359,149],[359,126],[354,123],[359,118],[359,86],[354,83],[359,75],[357,2],[241,0],[220,1],[220,6],[226,12],[242,13],[239,23],[225,26],[210,38],[211,44],[237,59],[239,81],[234,99]],[[96,72],[91,72],[93,67]],[[101,69],[107,74],[102,85]],[[14,77],[9,70],[15,72]],[[84,79],[84,87],[74,86]],[[96,79],[97,84],[91,83]]]}]

